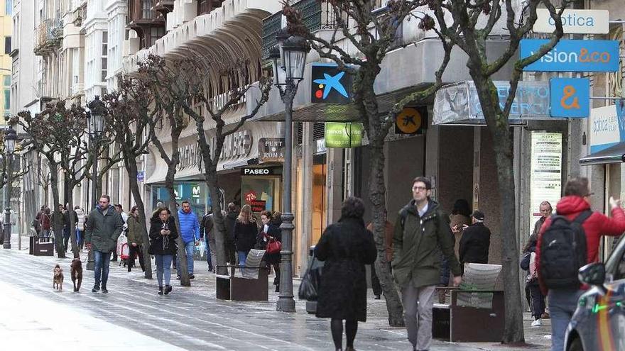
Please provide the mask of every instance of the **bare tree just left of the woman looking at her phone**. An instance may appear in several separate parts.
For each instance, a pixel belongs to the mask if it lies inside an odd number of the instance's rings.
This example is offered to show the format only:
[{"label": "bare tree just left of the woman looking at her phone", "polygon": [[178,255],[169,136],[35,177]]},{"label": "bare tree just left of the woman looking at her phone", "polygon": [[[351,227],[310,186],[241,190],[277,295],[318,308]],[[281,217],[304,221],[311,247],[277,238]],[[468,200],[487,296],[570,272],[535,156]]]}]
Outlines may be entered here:
[{"label": "bare tree just left of the woman looking at her phone", "polygon": [[119,89],[104,96],[107,104],[107,123],[112,128],[114,140],[119,145],[124,158],[124,167],[128,172],[130,190],[138,208],[138,222],[141,225],[143,236],[143,262],[145,262],[145,277],[152,279],[152,263],[148,247],[150,239],[146,225],[146,206],[141,196],[137,174],[137,157],[148,151],[151,126],[156,121],[158,110],[154,104],[154,96],[146,94],[146,84],[141,79],[128,76],[121,77]]}]

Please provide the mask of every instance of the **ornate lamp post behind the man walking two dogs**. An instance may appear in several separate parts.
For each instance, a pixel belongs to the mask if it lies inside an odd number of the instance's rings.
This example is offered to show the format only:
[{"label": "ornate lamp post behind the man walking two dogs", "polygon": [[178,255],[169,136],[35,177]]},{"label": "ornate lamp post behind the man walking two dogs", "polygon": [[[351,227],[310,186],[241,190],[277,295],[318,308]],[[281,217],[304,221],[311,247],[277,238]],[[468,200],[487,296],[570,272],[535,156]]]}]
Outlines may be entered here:
[{"label": "ornate lamp post behind the man walking two dogs", "polygon": [[[97,205],[97,201],[99,200],[97,194],[97,157],[98,157],[98,148],[100,136],[102,135],[102,130],[104,130],[104,116],[107,112],[107,106],[104,105],[104,102],[100,100],[99,96],[95,96],[95,98],[87,104],[87,128],[89,130],[89,140],[91,141],[91,149],[93,152],[93,172],[92,172],[92,184],[91,184],[91,199],[93,201],[91,211],[94,211],[95,206]],[[95,269],[95,259],[93,257],[93,250],[89,250],[89,257],[87,257],[87,269],[92,271]]]}]

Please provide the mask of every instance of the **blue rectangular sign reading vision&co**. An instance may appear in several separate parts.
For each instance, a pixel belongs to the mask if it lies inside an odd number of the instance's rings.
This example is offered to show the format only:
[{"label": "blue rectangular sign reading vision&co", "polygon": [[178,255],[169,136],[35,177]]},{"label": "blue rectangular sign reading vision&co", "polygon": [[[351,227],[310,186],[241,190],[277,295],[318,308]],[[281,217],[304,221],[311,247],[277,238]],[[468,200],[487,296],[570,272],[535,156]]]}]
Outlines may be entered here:
[{"label": "blue rectangular sign reading vision&co", "polygon": [[[521,40],[520,57],[529,57],[548,43],[544,39]],[[616,72],[619,70],[617,40],[560,40],[555,48],[524,71],[538,72]]]}]

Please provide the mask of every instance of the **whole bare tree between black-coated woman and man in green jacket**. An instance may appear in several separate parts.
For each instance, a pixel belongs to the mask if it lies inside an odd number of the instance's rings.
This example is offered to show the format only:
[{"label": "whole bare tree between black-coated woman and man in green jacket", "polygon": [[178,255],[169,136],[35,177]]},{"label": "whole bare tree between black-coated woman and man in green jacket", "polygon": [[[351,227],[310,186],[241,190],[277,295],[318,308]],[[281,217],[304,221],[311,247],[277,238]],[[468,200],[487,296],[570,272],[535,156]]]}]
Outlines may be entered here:
[{"label": "whole bare tree between black-coated woman and man in green jacket", "polygon": [[[374,11],[370,0],[331,0],[329,11],[335,16],[335,30],[330,39],[324,39],[310,33],[303,23],[301,13],[284,1],[283,14],[288,21],[288,31],[293,35],[303,36],[310,46],[322,58],[330,59],[338,65],[339,70],[354,77],[352,99],[359,113],[371,152],[371,170],[369,176],[369,200],[373,206],[374,237],[378,247],[378,258],[375,269],[382,286],[388,310],[388,323],[391,326],[402,326],[403,307],[397,294],[388,259],[385,255],[386,227],[386,184],[384,180],[384,144],[388,130],[396,121],[398,113],[408,104],[419,104],[432,96],[442,85],[442,74],[450,60],[453,44],[442,37],[442,33],[433,28],[431,21],[421,21],[420,28],[431,28],[441,39],[445,55],[435,73],[436,82],[423,91],[417,91],[393,104],[388,111],[381,110],[378,96],[374,91],[374,82],[381,72],[384,57],[397,48],[396,33],[398,26],[411,16],[426,0],[388,1],[385,11]],[[352,46],[357,52],[348,52],[345,48]]]}]

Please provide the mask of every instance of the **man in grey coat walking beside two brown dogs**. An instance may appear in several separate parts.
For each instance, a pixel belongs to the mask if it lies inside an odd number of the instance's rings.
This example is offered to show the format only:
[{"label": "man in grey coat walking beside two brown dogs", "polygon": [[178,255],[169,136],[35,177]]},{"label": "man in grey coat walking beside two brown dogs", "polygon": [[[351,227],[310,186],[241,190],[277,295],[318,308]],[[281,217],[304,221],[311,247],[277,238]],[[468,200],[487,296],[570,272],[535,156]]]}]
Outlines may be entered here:
[{"label": "man in grey coat walking beside two brown dogs", "polygon": [[85,247],[93,250],[95,260],[95,283],[92,292],[100,290],[107,293],[107,280],[109,279],[109,262],[111,252],[116,250],[117,238],[124,229],[124,221],[113,206],[109,206],[111,198],[108,195],[100,196],[99,203],[91,213],[85,228]]}]

